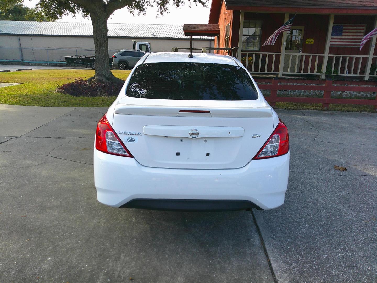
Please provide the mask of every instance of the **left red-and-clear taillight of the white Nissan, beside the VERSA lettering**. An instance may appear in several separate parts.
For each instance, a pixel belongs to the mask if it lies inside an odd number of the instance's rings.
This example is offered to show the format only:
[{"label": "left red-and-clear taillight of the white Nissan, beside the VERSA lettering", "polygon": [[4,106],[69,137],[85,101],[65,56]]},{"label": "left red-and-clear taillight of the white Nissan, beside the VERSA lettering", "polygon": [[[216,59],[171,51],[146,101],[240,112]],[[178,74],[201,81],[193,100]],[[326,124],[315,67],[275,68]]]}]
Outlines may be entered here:
[{"label": "left red-and-clear taillight of the white Nissan, beside the VERSA lettering", "polygon": [[133,157],[110,126],[109,121],[106,119],[106,114],[102,116],[97,125],[95,148],[108,154]]}]

